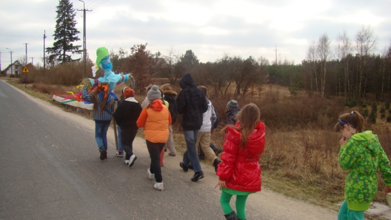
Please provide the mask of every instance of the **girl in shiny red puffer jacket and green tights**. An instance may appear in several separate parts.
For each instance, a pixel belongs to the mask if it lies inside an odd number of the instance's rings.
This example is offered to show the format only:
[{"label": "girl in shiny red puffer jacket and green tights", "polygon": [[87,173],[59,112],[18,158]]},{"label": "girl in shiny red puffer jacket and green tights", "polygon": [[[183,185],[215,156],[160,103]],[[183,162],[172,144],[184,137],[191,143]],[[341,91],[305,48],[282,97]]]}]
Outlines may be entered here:
[{"label": "girl in shiny red puffer jacket and green tights", "polygon": [[[261,191],[261,166],[258,163],[265,146],[265,126],[258,107],[250,103],[239,112],[235,126],[227,126],[222,162],[217,176],[222,190],[220,203],[227,220],[245,220],[248,195]],[[236,211],[230,200],[236,195]]]}]

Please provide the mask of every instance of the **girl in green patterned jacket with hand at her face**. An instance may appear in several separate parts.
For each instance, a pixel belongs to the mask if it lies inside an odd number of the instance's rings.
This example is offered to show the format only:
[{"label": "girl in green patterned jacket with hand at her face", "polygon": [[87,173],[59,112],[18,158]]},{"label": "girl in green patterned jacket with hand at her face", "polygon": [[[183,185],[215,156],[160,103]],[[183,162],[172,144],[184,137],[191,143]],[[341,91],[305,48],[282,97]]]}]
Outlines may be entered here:
[{"label": "girl in green patterned jacket with hand at her face", "polygon": [[338,162],[348,170],[345,182],[345,201],[338,220],[364,220],[364,212],[377,194],[377,170],[380,169],[385,193],[391,192],[391,167],[377,135],[364,129],[364,117],[357,111],[343,114],[335,125],[342,138]]}]

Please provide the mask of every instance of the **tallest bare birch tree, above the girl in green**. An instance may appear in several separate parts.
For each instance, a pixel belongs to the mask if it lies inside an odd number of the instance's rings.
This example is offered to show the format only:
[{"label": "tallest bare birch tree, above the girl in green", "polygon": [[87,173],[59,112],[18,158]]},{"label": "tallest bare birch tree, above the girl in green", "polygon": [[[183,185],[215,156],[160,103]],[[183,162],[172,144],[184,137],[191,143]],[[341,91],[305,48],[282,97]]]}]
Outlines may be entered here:
[{"label": "tallest bare birch tree, above the girl in green", "polygon": [[[373,29],[370,26],[362,26],[361,30],[356,34],[356,53],[359,57],[358,72],[360,82],[358,84],[358,99],[365,97],[365,87],[367,84],[368,75],[366,75],[364,91],[362,91],[364,80],[364,68],[366,66],[369,55],[376,49],[377,36],[374,36]],[[363,95],[361,95],[363,94]]]}]

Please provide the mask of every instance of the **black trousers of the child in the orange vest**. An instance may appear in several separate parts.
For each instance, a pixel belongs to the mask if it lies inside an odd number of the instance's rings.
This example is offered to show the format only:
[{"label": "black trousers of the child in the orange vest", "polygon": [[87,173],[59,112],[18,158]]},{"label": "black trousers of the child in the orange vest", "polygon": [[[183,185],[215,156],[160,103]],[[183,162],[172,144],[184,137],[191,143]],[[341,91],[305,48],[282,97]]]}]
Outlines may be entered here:
[{"label": "black trousers of the child in the orange vest", "polygon": [[148,152],[151,157],[151,174],[155,175],[156,182],[162,182],[162,170],[160,168],[160,153],[162,152],[164,145],[166,143],[152,143],[149,140],[146,140]]}]

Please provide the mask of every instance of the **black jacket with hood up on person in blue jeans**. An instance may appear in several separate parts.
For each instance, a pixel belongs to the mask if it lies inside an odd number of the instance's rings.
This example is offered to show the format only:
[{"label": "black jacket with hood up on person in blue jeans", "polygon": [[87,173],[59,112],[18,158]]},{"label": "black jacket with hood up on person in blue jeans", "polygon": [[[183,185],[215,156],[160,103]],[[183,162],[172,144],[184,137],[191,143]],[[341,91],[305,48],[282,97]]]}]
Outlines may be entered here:
[{"label": "black jacket with hood up on person in blue jeans", "polygon": [[199,130],[202,126],[202,114],[208,110],[208,101],[204,92],[195,86],[190,73],[186,73],[179,81],[182,90],[176,98],[176,110],[182,114],[184,131]]}]

